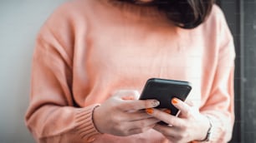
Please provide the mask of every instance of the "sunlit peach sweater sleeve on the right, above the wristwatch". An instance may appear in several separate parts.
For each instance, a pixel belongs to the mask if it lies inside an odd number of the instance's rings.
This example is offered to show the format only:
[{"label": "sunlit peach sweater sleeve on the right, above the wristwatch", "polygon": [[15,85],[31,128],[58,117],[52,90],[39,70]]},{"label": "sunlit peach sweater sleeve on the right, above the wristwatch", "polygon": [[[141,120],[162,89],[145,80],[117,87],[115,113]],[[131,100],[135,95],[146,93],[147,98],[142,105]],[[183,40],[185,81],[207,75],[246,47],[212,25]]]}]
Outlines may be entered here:
[{"label": "sunlit peach sweater sleeve on the right, above the wristwatch", "polygon": [[211,142],[228,142],[232,138],[234,123],[234,45],[233,37],[228,29],[223,12],[218,7],[218,51],[217,66],[213,74],[212,87],[202,114],[208,116],[212,122]]}]

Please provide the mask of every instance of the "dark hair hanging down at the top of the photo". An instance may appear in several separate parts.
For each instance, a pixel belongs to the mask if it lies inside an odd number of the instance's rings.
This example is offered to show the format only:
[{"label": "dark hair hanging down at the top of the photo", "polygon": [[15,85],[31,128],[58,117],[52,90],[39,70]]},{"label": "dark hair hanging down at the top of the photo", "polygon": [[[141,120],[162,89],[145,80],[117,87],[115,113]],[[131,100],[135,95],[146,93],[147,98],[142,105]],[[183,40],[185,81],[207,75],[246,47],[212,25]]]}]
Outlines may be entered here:
[{"label": "dark hair hanging down at the top of the photo", "polygon": [[[136,3],[137,0],[120,0]],[[156,6],[178,27],[194,28],[205,21],[214,0],[153,0],[146,5]]]}]

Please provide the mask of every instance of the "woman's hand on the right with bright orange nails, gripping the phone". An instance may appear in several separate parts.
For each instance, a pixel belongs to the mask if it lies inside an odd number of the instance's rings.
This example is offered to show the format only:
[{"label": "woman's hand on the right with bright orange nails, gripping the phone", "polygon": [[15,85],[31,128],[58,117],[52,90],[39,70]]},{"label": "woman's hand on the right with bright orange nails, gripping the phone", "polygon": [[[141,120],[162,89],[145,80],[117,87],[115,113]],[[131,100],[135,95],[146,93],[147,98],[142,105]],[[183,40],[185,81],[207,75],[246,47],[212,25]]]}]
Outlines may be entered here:
[{"label": "woman's hand on the right with bright orange nails, gripping the phone", "polygon": [[169,124],[169,126],[156,124],[154,129],[161,132],[171,142],[184,143],[204,140],[210,126],[207,117],[203,116],[196,106],[177,98],[172,99],[172,104],[181,111],[180,116],[172,116],[155,108],[146,109],[151,116]]}]

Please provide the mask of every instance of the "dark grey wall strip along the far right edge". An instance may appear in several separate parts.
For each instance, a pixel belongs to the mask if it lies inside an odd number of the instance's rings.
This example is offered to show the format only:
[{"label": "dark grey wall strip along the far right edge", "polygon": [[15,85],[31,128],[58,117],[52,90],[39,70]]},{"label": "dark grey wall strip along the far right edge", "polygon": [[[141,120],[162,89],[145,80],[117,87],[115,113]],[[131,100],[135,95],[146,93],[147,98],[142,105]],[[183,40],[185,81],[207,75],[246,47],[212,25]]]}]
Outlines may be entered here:
[{"label": "dark grey wall strip along the far right edge", "polygon": [[243,0],[244,95],[243,141],[256,142],[256,0]]}]

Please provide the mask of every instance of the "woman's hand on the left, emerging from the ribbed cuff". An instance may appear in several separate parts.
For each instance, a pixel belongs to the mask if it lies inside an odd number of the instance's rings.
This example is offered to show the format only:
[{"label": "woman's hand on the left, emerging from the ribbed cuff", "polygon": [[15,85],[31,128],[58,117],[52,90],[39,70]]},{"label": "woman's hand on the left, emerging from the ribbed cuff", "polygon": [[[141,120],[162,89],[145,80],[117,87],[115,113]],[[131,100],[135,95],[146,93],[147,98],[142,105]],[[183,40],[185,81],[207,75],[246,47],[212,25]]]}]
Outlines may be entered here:
[{"label": "woman's hand on the left, emerging from the ribbed cuff", "polygon": [[159,121],[142,109],[159,105],[156,100],[137,100],[138,91],[116,91],[110,99],[95,108],[93,120],[101,133],[130,136],[145,132]]}]

